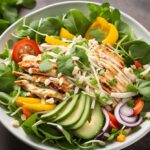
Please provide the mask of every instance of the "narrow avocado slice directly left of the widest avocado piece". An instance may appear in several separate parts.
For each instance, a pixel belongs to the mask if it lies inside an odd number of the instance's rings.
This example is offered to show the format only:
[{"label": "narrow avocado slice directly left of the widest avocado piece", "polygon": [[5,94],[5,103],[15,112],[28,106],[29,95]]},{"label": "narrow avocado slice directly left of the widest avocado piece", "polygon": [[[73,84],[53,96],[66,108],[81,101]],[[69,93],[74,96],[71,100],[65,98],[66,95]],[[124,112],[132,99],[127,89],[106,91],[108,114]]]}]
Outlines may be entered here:
[{"label": "narrow avocado slice directly left of the widest avocado piece", "polygon": [[90,113],[90,109],[91,109],[91,100],[89,96],[86,96],[86,104],[85,104],[85,108],[84,108],[84,112],[80,118],[80,120],[75,123],[73,126],[71,126],[71,129],[78,129],[80,128],[88,119],[89,113]]}]

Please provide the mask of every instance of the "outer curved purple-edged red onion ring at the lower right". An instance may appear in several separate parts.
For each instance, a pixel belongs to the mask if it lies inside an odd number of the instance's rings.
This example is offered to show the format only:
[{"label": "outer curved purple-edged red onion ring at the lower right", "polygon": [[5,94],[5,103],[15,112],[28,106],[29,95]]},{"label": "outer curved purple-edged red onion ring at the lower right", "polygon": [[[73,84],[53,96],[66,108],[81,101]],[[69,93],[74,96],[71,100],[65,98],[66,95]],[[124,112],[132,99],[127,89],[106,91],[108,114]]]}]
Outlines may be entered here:
[{"label": "outer curved purple-edged red onion ring at the lower right", "polygon": [[136,122],[134,122],[134,123],[126,122],[126,121],[124,121],[124,120],[120,117],[120,109],[121,109],[121,107],[122,107],[123,105],[124,105],[124,103],[123,103],[123,102],[120,102],[120,103],[116,106],[116,108],[115,108],[114,114],[115,114],[115,117],[116,117],[117,121],[118,121],[120,124],[125,125],[125,126],[127,126],[127,127],[135,127],[135,126],[138,126],[138,125],[142,122],[142,120],[143,120],[143,117],[142,117],[142,116],[138,116]]}]

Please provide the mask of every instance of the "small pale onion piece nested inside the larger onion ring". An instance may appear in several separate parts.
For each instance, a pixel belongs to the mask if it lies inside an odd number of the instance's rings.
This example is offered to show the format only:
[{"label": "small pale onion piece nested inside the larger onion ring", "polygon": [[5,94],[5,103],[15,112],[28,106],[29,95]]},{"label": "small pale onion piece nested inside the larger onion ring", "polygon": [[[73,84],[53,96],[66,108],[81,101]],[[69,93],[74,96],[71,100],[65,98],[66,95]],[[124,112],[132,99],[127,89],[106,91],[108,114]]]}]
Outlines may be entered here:
[{"label": "small pale onion piece nested inside the larger onion ring", "polygon": [[129,107],[127,104],[123,105],[121,108],[120,108],[120,113],[124,116],[132,116],[134,111],[131,107]]}]

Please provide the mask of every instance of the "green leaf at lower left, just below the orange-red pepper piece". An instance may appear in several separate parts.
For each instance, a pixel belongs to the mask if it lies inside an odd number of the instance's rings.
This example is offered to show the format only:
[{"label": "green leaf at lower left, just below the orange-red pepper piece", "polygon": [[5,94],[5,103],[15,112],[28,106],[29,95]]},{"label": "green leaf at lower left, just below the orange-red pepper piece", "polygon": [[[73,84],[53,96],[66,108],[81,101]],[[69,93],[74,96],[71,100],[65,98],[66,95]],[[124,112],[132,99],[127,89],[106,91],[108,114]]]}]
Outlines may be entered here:
[{"label": "green leaf at lower left, just below the orange-red pepper piece", "polygon": [[29,117],[26,121],[24,121],[24,123],[21,125],[22,128],[24,129],[24,131],[27,134],[32,135],[33,131],[32,131],[32,126],[35,124],[36,120],[38,118],[37,113],[34,113],[31,117]]}]

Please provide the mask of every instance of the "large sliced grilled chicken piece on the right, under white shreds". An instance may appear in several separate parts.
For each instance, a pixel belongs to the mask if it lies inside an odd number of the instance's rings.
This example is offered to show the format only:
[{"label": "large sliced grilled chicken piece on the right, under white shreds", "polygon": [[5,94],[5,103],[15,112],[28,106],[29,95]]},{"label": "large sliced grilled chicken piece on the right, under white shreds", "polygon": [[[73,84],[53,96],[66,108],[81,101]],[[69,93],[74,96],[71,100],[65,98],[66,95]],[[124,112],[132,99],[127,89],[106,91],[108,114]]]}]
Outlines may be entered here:
[{"label": "large sliced grilled chicken piece on the right, under white shreds", "polygon": [[[102,88],[108,93],[126,92],[126,86],[136,79],[132,69],[127,68],[124,61],[107,46],[96,46],[92,52],[98,58],[97,65],[105,70],[104,74],[99,76]],[[116,82],[110,85],[109,82],[113,79]]]}]

